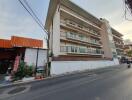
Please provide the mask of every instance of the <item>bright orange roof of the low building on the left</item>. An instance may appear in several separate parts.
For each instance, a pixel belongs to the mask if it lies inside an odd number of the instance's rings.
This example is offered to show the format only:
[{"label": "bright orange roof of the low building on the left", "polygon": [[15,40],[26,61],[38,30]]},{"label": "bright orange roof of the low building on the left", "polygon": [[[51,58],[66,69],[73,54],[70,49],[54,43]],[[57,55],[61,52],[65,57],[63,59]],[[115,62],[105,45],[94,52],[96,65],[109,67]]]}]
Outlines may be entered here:
[{"label": "bright orange roof of the low building on the left", "polygon": [[30,47],[42,48],[43,40],[12,36],[11,40],[0,39],[0,48]]}]

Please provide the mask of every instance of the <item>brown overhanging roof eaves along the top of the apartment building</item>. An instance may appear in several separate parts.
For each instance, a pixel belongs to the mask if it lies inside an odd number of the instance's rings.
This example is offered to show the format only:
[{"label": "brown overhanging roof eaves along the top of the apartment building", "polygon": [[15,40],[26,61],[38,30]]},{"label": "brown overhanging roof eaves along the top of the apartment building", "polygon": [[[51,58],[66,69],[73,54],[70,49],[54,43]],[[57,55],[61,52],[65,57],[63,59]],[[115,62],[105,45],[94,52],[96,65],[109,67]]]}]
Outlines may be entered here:
[{"label": "brown overhanging roof eaves along the top of the apartment building", "polygon": [[59,3],[61,3],[62,5],[67,6],[71,10],[77,12],[79,15],[91,20],[92,22],[94,22],[96,24],[101,24],[102,23],[97,17],[95,17],[92,14],[88,13],[87,11],[85,11],[84,9],[82,9],[81,7],[76,5],[75,3],[71,2],[70,0],[50,0],[49,8],[48,8],[48,14],[47,14],[46,22],[45,22],[45,29],[46,30],[49,30],[49,27],[50,27],[50,24],[52,22],[54,13],[55,13],[55,11],[57,9],[57,5]]}]

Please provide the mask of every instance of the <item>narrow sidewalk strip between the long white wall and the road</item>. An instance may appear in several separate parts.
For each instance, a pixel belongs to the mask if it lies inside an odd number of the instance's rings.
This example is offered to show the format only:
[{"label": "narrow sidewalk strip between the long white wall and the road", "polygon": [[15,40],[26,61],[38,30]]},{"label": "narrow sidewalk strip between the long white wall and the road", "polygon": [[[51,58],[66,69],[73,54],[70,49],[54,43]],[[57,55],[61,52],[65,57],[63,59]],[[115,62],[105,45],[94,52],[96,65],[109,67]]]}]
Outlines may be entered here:
[{"label": "narrow sidewalk strip between the long white wall and the road", "polygon": [[32,81],[27,81],[27,82],[17,81],[17,82],[9,83],[9,82],[5,82],[4,79],[1,76],[0,79],[3,79],[3,80],[0,80],[0,88],[2,89],[2,88],[8,88],[8,87],[11,87],[11,86],[26,85],[26,84],[30,84],[30,83],[40,82],[40,81],[43,81],[43,80],[48,81],[48,80],[52,80],[52,79],[58,79],[58,78],[62,78],[62,77],[69,77],[69,76],[72,76],[72,75],[77,75],[77,74],[82,74],[82,73],[88,73],[88,74],[104,73],[104,72],[109,72],[111,70],[120,69],[120,68],[126,68],[126,65],[123,64],[123,65],[110,66],[110,67],[101,68],[101,69],[85,70],[85,71],[81,71],[81,72],[67,73],[67,74],[47,77],[47,78],[44,78],[42,80],[32,80]]}]

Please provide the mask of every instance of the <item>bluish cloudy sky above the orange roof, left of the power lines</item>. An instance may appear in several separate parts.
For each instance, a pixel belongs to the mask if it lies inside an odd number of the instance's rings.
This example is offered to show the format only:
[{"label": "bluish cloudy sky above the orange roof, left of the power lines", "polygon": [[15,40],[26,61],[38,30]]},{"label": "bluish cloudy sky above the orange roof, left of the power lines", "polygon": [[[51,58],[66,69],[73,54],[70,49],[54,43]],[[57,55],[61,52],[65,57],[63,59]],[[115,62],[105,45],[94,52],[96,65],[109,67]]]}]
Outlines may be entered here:
[{"label": "bluish cloudy sky above the orange roof, left of the power lines", "polygon": [[[0,38],[12,35],[44,39],[43,30],[15,0],[0,1]],[[6,4],[6,5],[5,5]],[[2,9],[2,5],[5,5]]]}]

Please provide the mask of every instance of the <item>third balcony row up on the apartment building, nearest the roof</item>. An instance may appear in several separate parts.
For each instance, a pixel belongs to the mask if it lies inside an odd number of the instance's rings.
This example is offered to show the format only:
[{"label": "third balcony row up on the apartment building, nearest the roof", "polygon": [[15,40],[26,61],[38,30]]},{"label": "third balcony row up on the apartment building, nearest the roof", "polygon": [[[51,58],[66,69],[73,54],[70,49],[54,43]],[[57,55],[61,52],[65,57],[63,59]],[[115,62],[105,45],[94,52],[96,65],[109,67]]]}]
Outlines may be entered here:
[{"label": "third balcony row up on the apartment building, nearest the roof", "polygon": [[[61,25],[62,26],[69,26],[70,29],[73,29],[73,30],[78,29],[78,30],[81,30],[83,32],[89,33],[91,36],[94,36],[96,38],[100,38],[99,32],[96,32],[93,29],[81,26],[81,25],[79,25],[79,24],[77,24],[77,23],[75,23],[73,21],[70,21],[70,20],[66,20],[66,21],[61,20]],[[73,28],[71,28],[71,27],[73,27]]]}]

